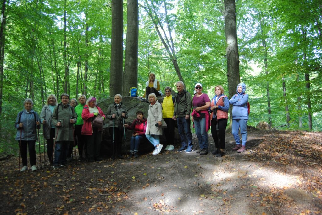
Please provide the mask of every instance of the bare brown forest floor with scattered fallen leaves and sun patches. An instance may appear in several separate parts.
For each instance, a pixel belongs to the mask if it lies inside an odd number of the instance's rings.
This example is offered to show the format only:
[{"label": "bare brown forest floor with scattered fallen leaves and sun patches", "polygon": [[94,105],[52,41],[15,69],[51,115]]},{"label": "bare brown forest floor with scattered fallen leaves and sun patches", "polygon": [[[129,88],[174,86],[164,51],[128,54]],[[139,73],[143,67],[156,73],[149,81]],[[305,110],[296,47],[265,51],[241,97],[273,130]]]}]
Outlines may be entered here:
[{"label": "bare brown forest floor with scattered fallen leaves and sun patches", "polygon": [[322,214],[322,133],[250,129],[243,153],[226,137],[223,158],[209,136],[208,155],[162,151],[24,173],[18,158],[1,161],[0,213]]}]

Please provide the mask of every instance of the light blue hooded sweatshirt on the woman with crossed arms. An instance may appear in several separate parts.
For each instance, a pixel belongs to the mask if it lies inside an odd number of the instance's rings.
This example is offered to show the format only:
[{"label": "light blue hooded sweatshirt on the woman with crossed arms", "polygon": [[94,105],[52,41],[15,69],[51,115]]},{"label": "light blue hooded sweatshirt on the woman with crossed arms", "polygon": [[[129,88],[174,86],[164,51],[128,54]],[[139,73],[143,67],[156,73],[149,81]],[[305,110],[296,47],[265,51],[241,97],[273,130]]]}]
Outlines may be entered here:
[{"label": "light blue hooded sweatshirt on the woman with crossed arms", "polygon": [[[242,86],[242,92],[238,93],[238,86]],[[237,94],[233,95],[229,99],[229,103],[232,104],[232,119],[247,119],[248,120],[248,94],[245,93],[246,84],[240,83],[237,85]]]}]

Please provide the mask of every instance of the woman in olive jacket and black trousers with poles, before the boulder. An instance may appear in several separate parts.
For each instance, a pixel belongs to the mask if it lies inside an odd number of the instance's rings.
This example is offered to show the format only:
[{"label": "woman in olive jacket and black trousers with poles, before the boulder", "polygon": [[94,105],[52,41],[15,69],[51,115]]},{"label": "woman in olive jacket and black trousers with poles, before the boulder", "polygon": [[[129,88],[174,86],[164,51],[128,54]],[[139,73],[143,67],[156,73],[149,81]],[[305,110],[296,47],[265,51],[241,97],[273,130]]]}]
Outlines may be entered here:
[{"label": "woman in olive jacket and black trousers with poles, before the boulder", "polygon": [[113,138],[112,142],[112,159],[122,159],[122,136],[124,132],[123,119],[128,118],[128,111],[125,105],[122,104],[122,96],[116,94],[114,103],[109,105],[106,117],[109,119],[109,133]]}]

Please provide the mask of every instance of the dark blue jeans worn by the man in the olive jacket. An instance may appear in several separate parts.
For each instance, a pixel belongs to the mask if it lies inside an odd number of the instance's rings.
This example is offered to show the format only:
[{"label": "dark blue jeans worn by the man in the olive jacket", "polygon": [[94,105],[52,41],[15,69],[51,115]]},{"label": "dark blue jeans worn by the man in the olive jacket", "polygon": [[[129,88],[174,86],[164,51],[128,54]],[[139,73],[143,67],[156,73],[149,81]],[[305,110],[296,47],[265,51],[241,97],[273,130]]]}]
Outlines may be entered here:
[{"label": "dark blue jeans worn by the man in the olive jacket", "polygon": [[181,139],[181,146],[184,148],[192,148],[192,134],[190,131],[190,119],[185,116],[177,118],[178,132]]}]

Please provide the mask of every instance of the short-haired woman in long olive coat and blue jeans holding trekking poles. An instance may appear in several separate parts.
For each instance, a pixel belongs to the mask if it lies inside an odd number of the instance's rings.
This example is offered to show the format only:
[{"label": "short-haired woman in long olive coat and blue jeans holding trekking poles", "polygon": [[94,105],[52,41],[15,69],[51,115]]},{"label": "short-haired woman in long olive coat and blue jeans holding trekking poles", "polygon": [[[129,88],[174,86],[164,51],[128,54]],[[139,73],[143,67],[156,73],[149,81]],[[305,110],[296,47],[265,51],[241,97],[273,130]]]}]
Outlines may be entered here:
[{"label": "short-haired woman in long olive coat and blue jeans holding trekking poles", "polygon": [[54,169],[67,166],[67,153],[70,144],[74,144],[73,124],[77,115],[69,104],[69,95],[61,95],[61,103],[52,113],[52,125],[56,126]]}]

